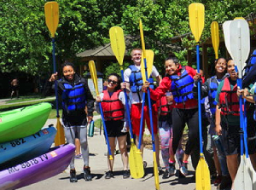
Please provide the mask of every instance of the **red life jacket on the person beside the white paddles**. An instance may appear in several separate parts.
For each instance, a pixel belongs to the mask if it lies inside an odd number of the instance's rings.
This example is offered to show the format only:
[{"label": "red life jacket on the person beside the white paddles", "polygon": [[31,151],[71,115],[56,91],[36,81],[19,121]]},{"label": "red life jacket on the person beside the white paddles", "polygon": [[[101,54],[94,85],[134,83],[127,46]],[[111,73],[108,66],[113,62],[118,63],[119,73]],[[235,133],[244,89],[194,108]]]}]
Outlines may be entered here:
[{"label": "red life jacket on the person beside the white paddles", "polygon": [[229,78],[224,79],[224,85],[219,94],[219,103],[222,115],[240,115],[239,98],[236,95],[237,83],[233,89],[230,88]]}]

